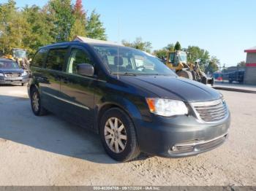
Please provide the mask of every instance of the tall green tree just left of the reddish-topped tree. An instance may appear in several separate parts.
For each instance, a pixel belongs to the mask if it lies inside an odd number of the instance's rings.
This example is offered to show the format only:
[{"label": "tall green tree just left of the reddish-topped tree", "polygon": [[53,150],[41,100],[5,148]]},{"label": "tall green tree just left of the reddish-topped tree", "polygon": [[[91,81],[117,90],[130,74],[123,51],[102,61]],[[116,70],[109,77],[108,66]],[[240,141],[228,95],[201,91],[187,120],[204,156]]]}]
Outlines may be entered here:
[{"label": "tall green tree just left of the reddish-topped tree", "polygon": [[49,4],[50,14],[52,14],[54,18],[56,41],[68,41],[71,34],[71,28],[75,23],[75,16],[72,14],[71,1],[51,0]]}]

